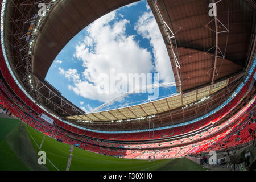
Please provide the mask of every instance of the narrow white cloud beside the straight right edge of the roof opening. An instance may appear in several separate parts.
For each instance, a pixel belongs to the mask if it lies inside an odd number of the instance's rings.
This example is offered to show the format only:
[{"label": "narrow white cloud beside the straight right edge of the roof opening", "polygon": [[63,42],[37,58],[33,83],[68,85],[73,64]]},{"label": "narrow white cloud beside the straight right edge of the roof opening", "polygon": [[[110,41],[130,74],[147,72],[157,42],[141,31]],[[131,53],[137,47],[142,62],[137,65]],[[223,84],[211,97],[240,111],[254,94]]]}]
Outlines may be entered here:
[{"label": "narrow white cloud beside the straight right edge of the roof opening", "polygon": [[143,38],[150,40],[155,57],[155,69],[159,73],[160,80],[173,82],[174,73],[172,72],[170,58],[151,10],[145,12],[139,18],[135,25],[135,30],[137,30]]}]

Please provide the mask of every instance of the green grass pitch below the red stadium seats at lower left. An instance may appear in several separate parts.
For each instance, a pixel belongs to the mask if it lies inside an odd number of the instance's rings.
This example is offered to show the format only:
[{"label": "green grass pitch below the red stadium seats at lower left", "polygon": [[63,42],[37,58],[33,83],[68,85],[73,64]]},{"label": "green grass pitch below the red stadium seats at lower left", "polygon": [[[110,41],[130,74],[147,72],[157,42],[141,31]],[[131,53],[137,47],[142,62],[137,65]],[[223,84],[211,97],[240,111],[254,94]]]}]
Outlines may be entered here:
[{"label": "green grass pitch below the red stadium seats at lower left", "polygon": [[[23,128],[23,129],[22,129]],[[22,137],[20,137],[22,135]],[[15,139],[16,137],[16,139]],[[0,159],[0,170],[33,170],[33,169],[59,169],[64,171],[67,166],[69,157],[69,145],[57,142],[55,139],[46,136],[42,151],[46,152],[47,161],[46,167],[42,168],[39,164],[35,165],[35,160],[39,158],[36,156],[39,151],[38,146],[42,142],[44,134],[33,129],[28,125],[20,126],[20,121],[16,119],[0,118],[0,155],[5,158]],[[15,141],[18,141],[15,143]],[[33,159],[27,159],[22,150],[24,148],[17,147],[20,143],[27,151],[27,155],[32,155]],[[10,147],[11,146],[11,147]],[[29,152],[28,152],[29,151]],[[31,160],[33,160],[31,162]],[[53,165],[56,167],[53,167]],[[37,161],[36,161],[37,163]],[[4,164],[4,165],[3,165]],[[134,160],[114,158],[112,156],[105,156],[94,154],[93,152],[85,151],[74,147],[73,158],[70,170],[91,170],[91,171],[143,171],[143,170],[204,170],[201,166],[191,162],[188,159],[167,159],[156,160],[155,162],[148,162],[147,160]]]}]

